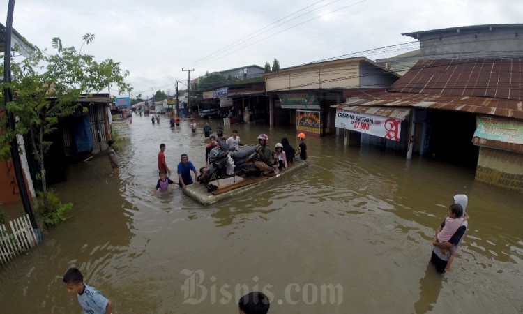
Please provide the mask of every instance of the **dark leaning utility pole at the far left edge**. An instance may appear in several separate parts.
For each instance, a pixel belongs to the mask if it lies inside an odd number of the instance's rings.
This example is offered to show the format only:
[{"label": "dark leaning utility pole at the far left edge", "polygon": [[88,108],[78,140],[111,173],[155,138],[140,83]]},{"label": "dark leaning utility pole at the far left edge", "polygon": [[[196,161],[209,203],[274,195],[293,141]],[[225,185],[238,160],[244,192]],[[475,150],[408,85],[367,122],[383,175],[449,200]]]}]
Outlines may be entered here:
[{"label": "dark leaning utility pole at the far left edge", "polygon": [[[15,0],[9,0],[7,8],[7,22],[6,22],[6,31],[4,33],[4,38],[6,38],[6,47],[3,54],[3,82],[11,82],[11,36],[13,35],[13,14],[15,11]],[[9,103],[13,98],[11,96],[11,91],[8,87],[3,89],[3,99],[5,103]],[[13,112],[7,110],[9,128],[15,131],[15,116]],[[10,141],[10,151],[11,151],[11,160],[13,160],[13,167],[15,168],[16,183],[18,185],[18,190],[20,190],[20,197],[22,198],[22,204],[24,205],[24,211],[29,215],[29,220],[31,220],[31,225],[33,228],[38,229],[38,224],[33,214],[33,209],[31,207],[31,201],[29,200],[29,194],[25,187],[24,174],[22,172],[22,163],[20,162],[20,154],[18,153],[18,140],[15,135],[15,138]]]}]

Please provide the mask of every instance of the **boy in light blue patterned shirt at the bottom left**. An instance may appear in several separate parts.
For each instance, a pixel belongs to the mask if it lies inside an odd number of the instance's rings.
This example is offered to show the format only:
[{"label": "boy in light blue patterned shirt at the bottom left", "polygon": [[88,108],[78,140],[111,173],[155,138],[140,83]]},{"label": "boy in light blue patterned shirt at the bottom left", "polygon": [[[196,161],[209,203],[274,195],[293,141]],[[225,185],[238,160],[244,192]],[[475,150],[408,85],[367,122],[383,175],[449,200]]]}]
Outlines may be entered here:
[{"label": "boy in light blue patterned shirt at the bottom left", "polygon": [[91,314],[109,314],[112,311],[112,302],[104,297],[93,287],[84,283],[84,275],[76,269],[70,268],[63,275],[63,283],[67,291],[77,294],[78,302],[82,306],[84,313]]}]

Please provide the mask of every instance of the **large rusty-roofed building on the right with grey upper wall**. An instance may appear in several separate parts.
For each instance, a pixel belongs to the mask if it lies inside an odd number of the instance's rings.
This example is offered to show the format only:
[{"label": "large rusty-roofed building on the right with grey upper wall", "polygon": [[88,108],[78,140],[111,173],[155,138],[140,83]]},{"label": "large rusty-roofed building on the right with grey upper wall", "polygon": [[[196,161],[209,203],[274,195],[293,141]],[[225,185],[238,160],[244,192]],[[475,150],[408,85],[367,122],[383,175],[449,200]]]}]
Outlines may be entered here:
[{"label": "large rusty-roofed building on the right with grey upper wall", "polygon": [[[407,158],[473,167],[476,181],[523,193],[522,31],[501,24],[407,33],[420,38],[423,59],[388,93],[347,98],[338,114],[394,119],[408,111]],[[389,147],[390,139],[365,132],[361,143]]]}]

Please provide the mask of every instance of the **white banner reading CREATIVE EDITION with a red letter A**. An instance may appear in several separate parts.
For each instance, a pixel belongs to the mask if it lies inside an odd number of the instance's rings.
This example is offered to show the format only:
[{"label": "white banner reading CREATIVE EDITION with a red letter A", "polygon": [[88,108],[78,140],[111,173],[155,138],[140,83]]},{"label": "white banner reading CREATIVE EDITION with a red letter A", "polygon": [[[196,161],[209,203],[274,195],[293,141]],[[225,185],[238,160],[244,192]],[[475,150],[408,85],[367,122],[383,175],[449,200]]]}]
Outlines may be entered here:
[{"label": "white banner reading CREATIVE EDITION with a red letter A", "polygon": [[374,116],[373,114],[338,111],[336,112],[335,127],[399,141],[401,122],[400,119]]}]

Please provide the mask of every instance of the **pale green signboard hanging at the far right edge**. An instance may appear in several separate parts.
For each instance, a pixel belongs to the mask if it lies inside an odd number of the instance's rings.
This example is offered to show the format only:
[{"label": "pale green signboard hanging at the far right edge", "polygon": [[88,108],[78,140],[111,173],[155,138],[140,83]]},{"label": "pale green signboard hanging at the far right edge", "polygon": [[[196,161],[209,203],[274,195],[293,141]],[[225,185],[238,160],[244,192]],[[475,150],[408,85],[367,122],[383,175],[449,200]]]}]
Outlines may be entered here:
[{"label": "pale green signboard hanging at the far right edge", "polygon": [[523,121],[494,117],[477,117],[474,137],[523,144]]}]

